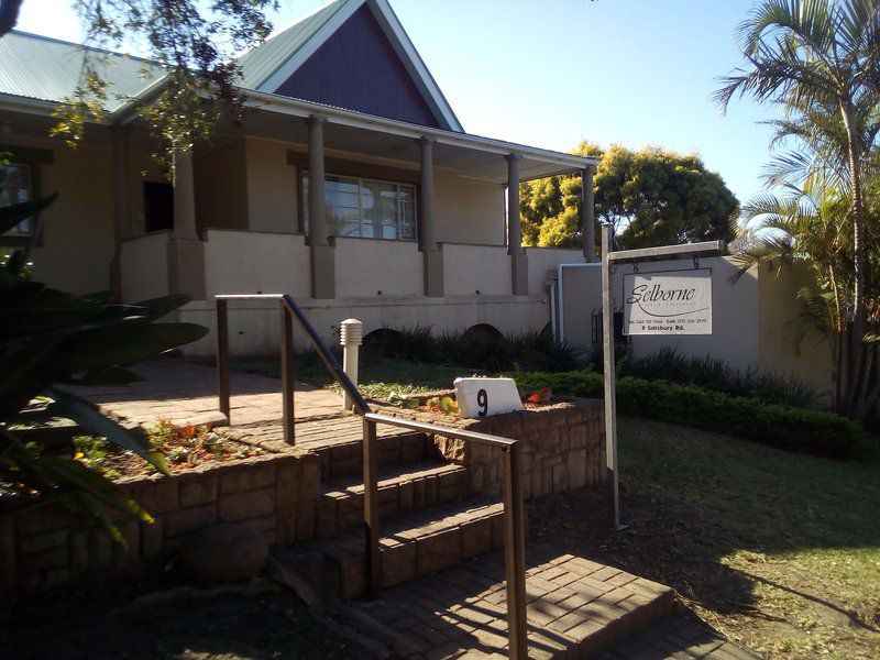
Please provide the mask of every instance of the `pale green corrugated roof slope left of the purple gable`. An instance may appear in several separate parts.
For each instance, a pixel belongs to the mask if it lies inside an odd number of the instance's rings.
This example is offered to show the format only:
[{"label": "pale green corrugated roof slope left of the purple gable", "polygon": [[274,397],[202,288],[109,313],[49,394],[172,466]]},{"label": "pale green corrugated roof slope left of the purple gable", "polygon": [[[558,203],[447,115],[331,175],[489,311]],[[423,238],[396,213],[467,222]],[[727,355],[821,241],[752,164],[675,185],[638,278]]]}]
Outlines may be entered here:
[{"label": "pale green corrugated roof slope left of the purple gable", "polygon": [[263,44],[251,48],[239,57],[242,78],[241,87],[258,89],[280,65],[287,62],[333,14],[345,4],[345,0],[336,0],[298,23],[266,40]]}]

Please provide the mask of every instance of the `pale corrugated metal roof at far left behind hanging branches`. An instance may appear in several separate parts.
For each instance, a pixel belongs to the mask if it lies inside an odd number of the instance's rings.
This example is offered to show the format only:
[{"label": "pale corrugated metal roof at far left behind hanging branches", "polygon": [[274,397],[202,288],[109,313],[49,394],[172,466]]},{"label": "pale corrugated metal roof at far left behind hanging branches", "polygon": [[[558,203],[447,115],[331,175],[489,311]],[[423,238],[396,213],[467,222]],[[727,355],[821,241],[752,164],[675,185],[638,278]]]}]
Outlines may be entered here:
[{"label": "pale corrugated metal roof at far left behind hanging branches", "polygon": [[[70,98],[87,52],[108,82],[109,112],[123,106],[124,97],[136,96],[162,77],[162,69],[147,59],[13,31],[0,38],[0,94],[54,102]],[[107,55],[103,62],[99,62],[101,55]],[[143,69],[150,70],[146,77]]]}]

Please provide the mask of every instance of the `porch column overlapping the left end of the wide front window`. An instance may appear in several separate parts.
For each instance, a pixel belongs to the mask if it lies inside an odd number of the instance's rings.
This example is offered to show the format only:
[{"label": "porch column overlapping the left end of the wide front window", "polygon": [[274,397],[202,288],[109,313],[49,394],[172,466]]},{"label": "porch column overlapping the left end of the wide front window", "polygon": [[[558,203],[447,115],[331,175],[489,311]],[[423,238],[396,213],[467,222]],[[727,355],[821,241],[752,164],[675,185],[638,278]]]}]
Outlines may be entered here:
[{"label": "porch column overlapping the left end of the wide front window", "polygon": [[327,118],[309,119],[309,245],[312,298],[336,298],[336,251],[327,230],[323,197],[323,128]]}]

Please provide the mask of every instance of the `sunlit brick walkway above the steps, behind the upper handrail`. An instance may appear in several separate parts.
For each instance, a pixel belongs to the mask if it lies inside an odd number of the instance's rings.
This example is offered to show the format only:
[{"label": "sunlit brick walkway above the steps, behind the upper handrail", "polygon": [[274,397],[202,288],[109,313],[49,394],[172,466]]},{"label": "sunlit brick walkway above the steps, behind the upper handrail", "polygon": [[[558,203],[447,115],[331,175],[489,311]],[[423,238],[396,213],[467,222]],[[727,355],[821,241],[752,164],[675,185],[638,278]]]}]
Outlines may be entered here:
[{"label": "sunlit brick walkway above the steps, behind the upper handrail", "polygon": [[[173,424],[219,424],[217,372],[210,366],[176,358],[146,360],[132,367],[143,381],[125,386],[67,387],[66,389],[113,419],[152,426],[158,419]],[[232,372],[230,380],[233,426],[277,422],[282,419],[280,381]],[[337,416],[342,397],[328,389],[297,383],[296,419]]]}]

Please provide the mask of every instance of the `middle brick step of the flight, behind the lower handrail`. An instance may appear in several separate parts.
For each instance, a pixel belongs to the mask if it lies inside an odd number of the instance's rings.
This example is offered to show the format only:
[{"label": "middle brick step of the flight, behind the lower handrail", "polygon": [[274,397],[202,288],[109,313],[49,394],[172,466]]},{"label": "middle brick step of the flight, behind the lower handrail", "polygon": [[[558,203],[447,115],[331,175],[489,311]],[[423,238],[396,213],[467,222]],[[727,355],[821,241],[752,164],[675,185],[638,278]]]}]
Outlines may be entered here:
[{"label": "middle brick step of the flight, behind the lower handrail", "polygon": [[[468,496],[468,471],[437,462],[386,465],[380,470],[378,506],[383,520]],[[318,496],[315,536],[319,539],[360,528],[364,522],[363,473],[327,480]]]}]

